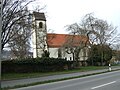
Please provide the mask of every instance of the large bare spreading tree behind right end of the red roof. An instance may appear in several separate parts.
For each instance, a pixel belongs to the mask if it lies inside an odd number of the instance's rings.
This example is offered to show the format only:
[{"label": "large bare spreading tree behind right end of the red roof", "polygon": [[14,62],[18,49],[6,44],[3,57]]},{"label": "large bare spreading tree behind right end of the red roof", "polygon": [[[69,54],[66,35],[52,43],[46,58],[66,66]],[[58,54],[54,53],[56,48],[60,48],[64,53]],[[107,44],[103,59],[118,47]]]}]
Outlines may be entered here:
[{"label": "large bare spreading tree behind right end of the red roof", "polygon": [[[67,30],[70,31],[72,35],[84,35],[87,37],[87,41],[84,43],[79,41],[79,46],[75,49],[76,57],[78,57],[79,52],[86,47],[88,41],[90,42],[89,45],[109,45],[110,40],[113,39],[112,37],[115,35],[116,27],[114,28],[112,25],[109,25],[107,21],[95,18],[93,14],[90,13],[86,14],[79,24],[74,23],[68,25]],[[103,60],[101,62],[103,62]]]}]

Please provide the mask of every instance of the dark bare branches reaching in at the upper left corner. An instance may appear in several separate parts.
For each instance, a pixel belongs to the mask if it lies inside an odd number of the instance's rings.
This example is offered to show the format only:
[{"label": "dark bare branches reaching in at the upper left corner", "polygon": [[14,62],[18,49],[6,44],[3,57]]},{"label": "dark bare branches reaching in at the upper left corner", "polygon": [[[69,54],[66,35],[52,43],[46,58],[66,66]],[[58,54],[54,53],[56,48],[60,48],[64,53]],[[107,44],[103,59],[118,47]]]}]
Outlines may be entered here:
[{"label": "dark bare branches reaching in at the upper left corner", "polygon": [[11,41],[14,35],[21,30],[19,24],[22,24],[21,20],[23,20],[23,18],[29,16],[29,13],[24,12],[26,12],[27,5],[33,1],[34,0],[3,0],[2,49]]}]

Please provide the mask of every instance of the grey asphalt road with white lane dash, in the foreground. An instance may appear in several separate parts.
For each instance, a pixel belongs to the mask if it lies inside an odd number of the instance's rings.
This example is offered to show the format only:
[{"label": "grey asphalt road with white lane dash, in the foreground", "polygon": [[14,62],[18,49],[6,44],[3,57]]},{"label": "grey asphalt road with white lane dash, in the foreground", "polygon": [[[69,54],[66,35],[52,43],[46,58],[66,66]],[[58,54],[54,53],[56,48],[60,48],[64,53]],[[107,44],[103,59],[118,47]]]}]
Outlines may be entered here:
[{"label": "grey asphalt road with white lane dash, in the foreground", "polygon": [[120,71],[14,90],[120,90]]}]

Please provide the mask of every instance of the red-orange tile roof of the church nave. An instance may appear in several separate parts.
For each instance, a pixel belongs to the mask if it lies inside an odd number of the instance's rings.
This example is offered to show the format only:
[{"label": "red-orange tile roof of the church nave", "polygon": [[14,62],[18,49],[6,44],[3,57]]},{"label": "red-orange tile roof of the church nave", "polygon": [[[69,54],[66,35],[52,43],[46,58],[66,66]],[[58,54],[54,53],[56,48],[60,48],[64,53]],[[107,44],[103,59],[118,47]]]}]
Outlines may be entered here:
[{"label": "red-orange tile roof of the church nave", "polygon": [[48,33],[47,34],[47,44],[48,47],[52,48],[59,48],[65,45],[65,43],[69,43],[70,40],[73,40],[72,43],[74,42],[74,46],[80,45],[80,42],[88,42],[88,39],[86,36],[83,35],[69,35],[69,34],[52,34]]}]

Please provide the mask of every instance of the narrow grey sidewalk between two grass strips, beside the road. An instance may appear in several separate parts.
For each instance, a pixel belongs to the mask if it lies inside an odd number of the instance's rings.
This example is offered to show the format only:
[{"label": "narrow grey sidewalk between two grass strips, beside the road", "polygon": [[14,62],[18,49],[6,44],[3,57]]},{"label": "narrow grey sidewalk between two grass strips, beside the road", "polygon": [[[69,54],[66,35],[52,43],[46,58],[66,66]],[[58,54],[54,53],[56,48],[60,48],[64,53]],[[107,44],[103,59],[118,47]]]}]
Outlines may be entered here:
[{"label": "narrow grey sidewalk between two grass strips, beside the road", "polygon": [[[120,69],[120,66],[112,67],[112,70],[117,70],[117,69]],[[61,75],[52,75],[52,76],[28,78],[28,79],[20,79],[20,80],[2,81],[1,87],[2,88],[3,87],[12,87],[15,85],[24,85],[24,84],[42,82],[42,81],[47,81],[47,80],[55,80],[55,79],[62,79],[62,78],[68,78],[68,77],[82,76],[82,75],[86,75],[86,74],[94,74],[94,73],[99,73],[99,72],[104,72],[104,71],[108,71],[108,69],[70,73],[70,74],[61,74]]]}]

